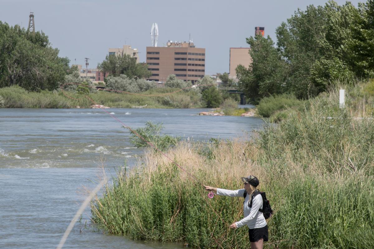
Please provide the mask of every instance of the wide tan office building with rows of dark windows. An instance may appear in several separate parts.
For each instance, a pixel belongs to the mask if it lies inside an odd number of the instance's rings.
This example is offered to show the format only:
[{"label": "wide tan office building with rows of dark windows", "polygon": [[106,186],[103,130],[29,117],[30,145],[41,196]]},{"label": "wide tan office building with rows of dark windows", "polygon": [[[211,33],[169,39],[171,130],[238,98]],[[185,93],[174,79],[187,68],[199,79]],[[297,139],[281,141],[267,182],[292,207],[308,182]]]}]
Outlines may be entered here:
[{"label": "wide tan office building with rows of dark windows", "polygon": [[168,41],[166,47],[147,47],[147,80],[165,82],[169,75],[191,81],[193,84],[205,75],[205,49],[196,48],[192,42]]}]

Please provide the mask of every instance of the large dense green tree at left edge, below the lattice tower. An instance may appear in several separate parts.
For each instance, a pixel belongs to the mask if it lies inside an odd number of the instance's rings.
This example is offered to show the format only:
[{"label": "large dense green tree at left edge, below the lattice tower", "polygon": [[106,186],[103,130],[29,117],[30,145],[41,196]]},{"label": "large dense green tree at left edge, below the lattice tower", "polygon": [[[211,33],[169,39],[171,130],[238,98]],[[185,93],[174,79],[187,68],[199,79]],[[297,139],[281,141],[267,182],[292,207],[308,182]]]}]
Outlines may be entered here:
[{"label": "large dense green tree at left edge, below the lattice tower", "polygon": [[58,57],[43,32],[0,22],[0,87],[19,85],[30,91],[53,90],[64,80],[69,60]]}]

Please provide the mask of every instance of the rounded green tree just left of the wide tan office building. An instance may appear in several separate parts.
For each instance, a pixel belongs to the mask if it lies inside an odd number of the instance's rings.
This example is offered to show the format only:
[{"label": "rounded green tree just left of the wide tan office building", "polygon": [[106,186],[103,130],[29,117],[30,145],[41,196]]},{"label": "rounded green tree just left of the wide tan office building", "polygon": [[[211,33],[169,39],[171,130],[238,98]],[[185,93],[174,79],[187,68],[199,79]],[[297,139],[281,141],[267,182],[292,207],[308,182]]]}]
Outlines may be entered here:
[{"label": "rounded green tree just left of the wide tan office building", "polygon": [[102,63],[98,64],[98,69],[104,73],[119,77],[121,74],[128,78],[148,78],[151,72],[148,70],[148,65],[145,63],[137,63],[135,57],[130,55],[107,55]]}]

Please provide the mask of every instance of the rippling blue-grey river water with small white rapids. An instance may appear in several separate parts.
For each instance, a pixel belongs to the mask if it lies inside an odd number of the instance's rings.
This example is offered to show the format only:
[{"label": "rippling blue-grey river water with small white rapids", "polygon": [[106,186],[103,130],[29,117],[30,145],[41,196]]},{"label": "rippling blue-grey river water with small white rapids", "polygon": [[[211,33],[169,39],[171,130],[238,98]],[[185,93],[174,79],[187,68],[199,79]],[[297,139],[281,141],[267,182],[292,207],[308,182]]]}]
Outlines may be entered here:
[{"label": "rippling blue-grey river water with small white rapids", "polygon": [[[232,139],[262,127],[255,117],[199,116],[208,109],[107,109],[132,128],[162,122],[182,139]],[[129,131],[101,109],[0,109],[0,248],[56,248],[65,229],[98,183],[142,155]],[[183,248],[103,234],[87,208],[64,248]]]}]

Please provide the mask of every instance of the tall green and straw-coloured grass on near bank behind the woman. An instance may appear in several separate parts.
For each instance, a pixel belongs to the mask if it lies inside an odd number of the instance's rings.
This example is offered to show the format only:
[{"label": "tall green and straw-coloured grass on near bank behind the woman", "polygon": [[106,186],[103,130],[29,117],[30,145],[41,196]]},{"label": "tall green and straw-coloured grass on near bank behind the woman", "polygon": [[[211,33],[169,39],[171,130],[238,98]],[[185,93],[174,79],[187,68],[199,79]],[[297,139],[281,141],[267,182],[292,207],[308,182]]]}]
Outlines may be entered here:
[{"label": "tall green and straw-coloured grass on near bank behind the woman", "polygon": [[[374,124],[353,119],[352,102],[339,109],[335,97],[314,99],[253,140],[181,142],[167,154],[209,186],[240,189],[240,177],[257,175],[275,210],[265,248],[373,248]],[[242,199],[208,199],[200,183],[153,151],[120,170],[92,206],[107,233],[195,248],[249,248],[248,230],[227,225],[241,217]]]}]

